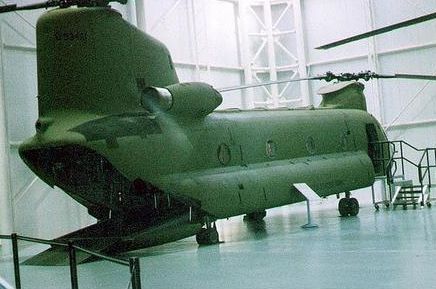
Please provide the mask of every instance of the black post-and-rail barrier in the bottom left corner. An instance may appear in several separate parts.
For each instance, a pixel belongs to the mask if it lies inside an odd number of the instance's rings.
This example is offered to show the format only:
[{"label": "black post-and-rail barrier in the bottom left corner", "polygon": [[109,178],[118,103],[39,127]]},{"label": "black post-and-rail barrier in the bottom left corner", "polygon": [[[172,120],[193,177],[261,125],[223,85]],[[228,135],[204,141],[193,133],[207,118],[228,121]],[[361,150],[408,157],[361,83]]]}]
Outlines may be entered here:
[{"label": "black post-and-rail barrier in the bottom left corner", "polygon": [[131,274],[129,287],[131,285],[132,289],[141,289],[141,275],[140,275],[140,265],[139,265],[138,257],[130,257],[128,260],[122,260],[122,259],[105,256],[103,254],[76,246],[73,244],[72,241],[68,243],[59,243],[59,242],[54,242],[44,239],[19,236],[16,233],[13,233],[11,235],[0,235],[0,239],[11,240],[12,243],[12,257],[14,262],[14,275],[15,275],[16,289],[21,289],[20,262],[18,256],[18,240],[38,243],[38,244],[66,247],[68,249],[68,258],[70,262],[69,266],[70,266],[70,276],[71,276],[71,289],[79,288],[78,276],[77,276],[76,250],[82,251],[84,253],[101,258],[109,262],[113,262],[119,265],[129,267],[130,274]]}]

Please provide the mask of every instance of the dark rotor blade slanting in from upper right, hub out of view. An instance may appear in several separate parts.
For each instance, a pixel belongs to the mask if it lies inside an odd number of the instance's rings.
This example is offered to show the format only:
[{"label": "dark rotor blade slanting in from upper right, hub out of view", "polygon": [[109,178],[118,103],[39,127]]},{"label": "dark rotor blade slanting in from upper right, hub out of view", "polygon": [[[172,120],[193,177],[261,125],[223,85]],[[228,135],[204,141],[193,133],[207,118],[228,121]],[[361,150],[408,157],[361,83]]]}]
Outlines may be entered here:
[{"label": "dark rotor blade slanting in from upper right, hub out of view", "polygon": [[371,37],[371,36],[375,36],[375,35],[378,35],[378,34],[389,32],[389,31],[392,31],[392,30],[395,30],[395,29],[398,29],[398,28],[407,27],[407,26],[410,26],[410,25],[413,25],[413,24],[418,24],[418,23],[421,23],[421,22],[424,22],[424,21],[435,19],[435,18],[436,18],[436,12],[430,13],[430,14],[427,14],[427,15],[424,15],[424,16],[420,16],[420,17],[417,17],[417,18],[409,19],[409,20],[406,20],[406,21],[403,21],[403,22],[400,22],[400,23],[396,23],[396,24],[393,24],[393,25],[385,26],[385,27],[378,28],[378,29],[375,29],[375,30],[372,30],[372,31],[369,31],[369,32],[365,32],[365,33],[354,35],[354,36],[351,36],[351,37],[348,37],[348,38],[345,38],[345,39],[342,39],[342,40],[338,40],[338,41],[335,41],[335,42],[332,42],[332,43],[329,43],[329,44],[325,44],[325,45],[316,47],[315,49],[329,49],[329,48],[336,47],[336,46],[339,46],[339,45],[342,45],[342,44],[346,44],[346,43],[349,43],[349,42],[365,39],[365,38],[368,38],[368,37]]}]

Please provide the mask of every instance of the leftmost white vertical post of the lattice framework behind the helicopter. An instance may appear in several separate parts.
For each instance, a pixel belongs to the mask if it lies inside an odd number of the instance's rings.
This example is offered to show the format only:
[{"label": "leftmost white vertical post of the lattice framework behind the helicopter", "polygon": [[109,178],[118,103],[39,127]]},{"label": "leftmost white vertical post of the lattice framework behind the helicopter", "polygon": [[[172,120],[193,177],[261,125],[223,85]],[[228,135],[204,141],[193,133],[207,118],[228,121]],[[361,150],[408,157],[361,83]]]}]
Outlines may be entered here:
[{"label": "leftmost white vertical post of the lattice framework behind the helicopter", "polygon": [[[253,81],[252,63],[250,59],[249,49],[249,36],[248,36],[248,0],[239,0],[238,2],[238,14],[239,14],[239,51],[241,55],[242,67],[244,68],[244,84],[251,84]],[[253,89],[243,89],[242,93],[242,108],[251,109],[254,108],[254,94]]]}]

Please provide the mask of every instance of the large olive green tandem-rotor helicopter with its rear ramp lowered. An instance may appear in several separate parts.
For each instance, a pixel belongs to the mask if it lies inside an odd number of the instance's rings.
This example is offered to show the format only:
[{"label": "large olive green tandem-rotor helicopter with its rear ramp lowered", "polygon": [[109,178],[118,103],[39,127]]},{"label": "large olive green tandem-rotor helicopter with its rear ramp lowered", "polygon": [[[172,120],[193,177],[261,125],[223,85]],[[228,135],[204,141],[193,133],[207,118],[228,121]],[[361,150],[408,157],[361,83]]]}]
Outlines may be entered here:
[{"label": "large olive green tandem-rotor helicopter with its rear ramp lowered", "polygon": [[[57,7],[37,23],[39,116],[19,153],[98,220],[56,241],[106,254],[192,235],[199,244],[218,243],[217,219],[260,220],[268,208],[303,201],[295,183],[321,197],[345,192],[340,214],[357,215],[349,191],[389,169],[371,145],[387,138],[357,80],[435,79],[327,73],[300,79],[339,81],[321,89],[317,108],[214,111],[221,92],[248,86],[180,83],[167,48],[110,2],[127,0],[0,8]],[[30,261],[53,264],[58,250]]]}]

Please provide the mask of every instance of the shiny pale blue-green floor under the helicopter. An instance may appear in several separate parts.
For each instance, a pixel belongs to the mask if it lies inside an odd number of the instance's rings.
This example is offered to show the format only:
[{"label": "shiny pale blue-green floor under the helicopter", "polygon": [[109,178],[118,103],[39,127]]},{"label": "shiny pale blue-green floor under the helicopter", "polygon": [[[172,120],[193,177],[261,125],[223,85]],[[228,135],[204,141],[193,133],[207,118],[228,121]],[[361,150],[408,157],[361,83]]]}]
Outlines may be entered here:
[{"label": "shiny pale blue-green floor under the helicopter", "polygon": [[[317,229],[304,230],[304,204],[268,211],[265,221],[218,222],[224,243],[198,247],[188,238],[130,253],[140,256],[142,288],[436,288],[433,208],[362,205],[341,218],[337,201],[313,208]],[[22,259],[40,246],[21,250]],[[11,258],[0,275],[13,283]],[[79,288],[128,288],[127,267],[105,261],[79,266]],[[22,266],[22,288],[70,288],[68,267]]]}]

